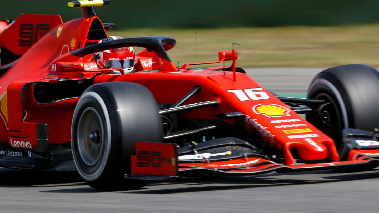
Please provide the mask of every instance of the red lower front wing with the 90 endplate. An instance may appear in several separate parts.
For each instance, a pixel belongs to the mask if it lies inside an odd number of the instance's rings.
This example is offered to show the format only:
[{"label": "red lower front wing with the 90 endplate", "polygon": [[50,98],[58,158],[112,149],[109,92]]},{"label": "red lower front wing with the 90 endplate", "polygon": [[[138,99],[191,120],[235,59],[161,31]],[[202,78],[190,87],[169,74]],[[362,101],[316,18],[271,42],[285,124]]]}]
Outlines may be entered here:
[{"label": "red lower front wing with the 90 endplate", "polygon": [[[269,160],[263,155],[243,154],[239,158],[230,160],[213,161],[206,156],[200,159],[202,162],[177,162],[177,149],[168,150],[167,147],[174,147],[174,144],[154,143],[154,148],[147,148],[149,142],[136,142],[136,156],[132,156],[132,174],[125,175],[129,179],[145,179],[145,180],[168,180],[173,177],[194,178],[204,175],[213,176],[249,176],[268,172],[299,172],[299,171],[315,171],[329,169],[346,169],[346,168],[362,168],[364,166],[378,165],[379,159],[373,156],[366,156],[365,153],[359,154],[356,160],[334,161],[327,163],[308,163],[286,165],[276,163]],[[227,148],[227,147],[224,147]],[[143,150],[141,150],[143,149]],[[149,150],[147,150],[149,149]],[[139,156],[141,151],[149,153],[159,153],[157,156],[144,155]],[[374,150],[373,150],[374,151]],[[376,150],[379,153],[379,150]],[[228,151],[227,151],[228,152]],[[354,150],[359,152],[359,150]],[[200,156],[201,154],[199,154]],[[204,156],[204,155],[203,155]],[[259,156],[259,157],[257,157]],[[169,160],[171,159],[171,160]],[[174,160],[175,159],[175,160]],[[141,165],[143,170],[141,170]],[[157,165],[164,165],[162,169]]]}]

